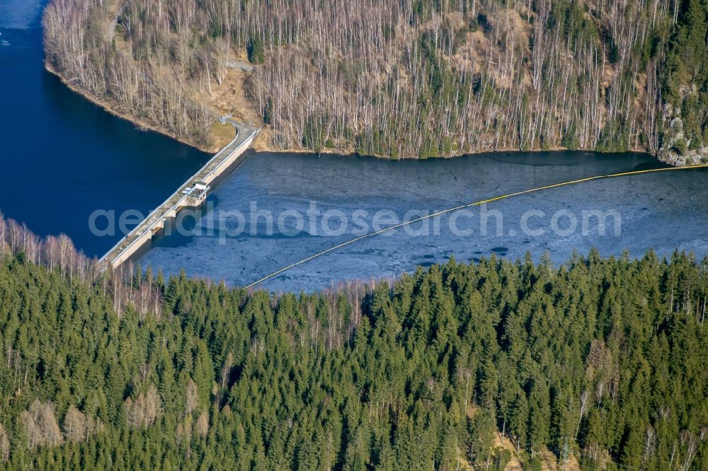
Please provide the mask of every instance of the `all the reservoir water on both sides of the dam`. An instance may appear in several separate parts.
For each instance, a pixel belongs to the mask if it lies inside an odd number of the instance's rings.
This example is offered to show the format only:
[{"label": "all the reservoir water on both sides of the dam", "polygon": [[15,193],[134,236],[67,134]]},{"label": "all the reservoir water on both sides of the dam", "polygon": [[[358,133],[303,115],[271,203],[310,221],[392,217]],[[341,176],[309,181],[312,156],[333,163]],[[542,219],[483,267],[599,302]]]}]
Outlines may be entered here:
[{"label": "all the reservoir water on both sides of the dam", "polygon": [[[13,15],[0,14],[0,211],[40,236],[66,233],[87,255],[101,256],[122,233],[96,235],[91,214],[145,215],[210,155],[142,132],[69,91],[43,69],[40,3],[8,3],[3,8]],[[656,166],[639,153],[502,152],[428,161],[256,153],[200,211],[177,221],[183,230],[154,239],[137,262],[246,285],[395,221]],[[563,262],[573,249],[587,254],[592,247],[603,255],[641,256],[654,248],[663,256],[679,249],[704,257],[707,177],[705,170],[646,173],[523,194],[367,238],[258,286],[313,291],[449,257],[515,260],[530,252],[538,260],[548,252]]]}]

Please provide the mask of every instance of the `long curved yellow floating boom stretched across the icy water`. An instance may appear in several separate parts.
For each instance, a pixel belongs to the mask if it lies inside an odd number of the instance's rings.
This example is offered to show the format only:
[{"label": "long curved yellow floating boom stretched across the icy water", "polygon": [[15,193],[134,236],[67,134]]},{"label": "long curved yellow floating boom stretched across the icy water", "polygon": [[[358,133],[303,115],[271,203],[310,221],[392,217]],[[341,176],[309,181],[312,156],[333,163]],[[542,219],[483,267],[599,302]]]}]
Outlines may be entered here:
[{"label": "long curved yellow floating boom stretched across the icy water", "polygon": [[364,239],[367,239],[367,238],[372,238],[372,237],[378,236],[379,234],[382,234],[382,233],[384,233],[384,232],[393,231],[394,229],[397,229],[397,228],[399,228],[399,227],[408,226],[409,224],[413,224],[413,223],[416,223],[416,222],[418,222],[418,221],[423,221],[423,220],[425,220],[425,219],[430,219],[430,218],[433,218],[433,217],[435,217],[435,216],[440,216],[441,214],[446,214],[446,213],[450,213],[450,212],[452,212],[452,211],[457,211],[458,209],[470,208],[470,207],[474,207],[474,206],[479,206],[480,204],[485,204],[485,203],[491,203],[491,202],[499,201],[500,199],[506,199],[506,198],[510,198],[510,197],[520,196],[520,195],[522,195],[522,194],[527,194],[527,193],[539,192],[539,191],[541,191],[541,190],[550,190],[550,189],[552,189],[552,188],[564,187],[564,186],[566,186],[566,185],[575,185],[576,183],[589,182],[589,181],[591,181],[591,180],[602,180],[603,178],[627,177],[627,176],[629,176],[629,175],[639,175],[639,174],[641,174],[641,173],[667,172],[667,171],[669,171],[669,170],[690,170],[690,169],[694,169],[694,168],[708,168],[708,164],[687,165],[687,166],[685,166],[685,167],[651,168],[651,169],[649,169],[649,170],[632,170],[632,171],[629,171],[629,172],[612,173],[611,175],[595,175],[594,177],[578,178],[578,180],[571,180],[571,181],[569,181],[569,182],[561,182],[561,183],[554,183],[554,184],[552,184],[552,185],[544,185],[544,186],[542,186],[542,187],[531,188],[530,190],[523,190],[523,191],[520,191],[520,192],[509,193],[509,194],[503,194],[503,195],[498,196],[498,197],[493,197],[493,198],[488,198],[488,199],[482,199],[481,201],[478,201],[478,202],[469,203],[469,204],[462,204],[462,205],[456,206],[456,207],[454,207],[454,208],[443,209],[442,211],[438,211],[438,212],[436,212],[436,213],[434,213],[434,214],[428,214],[427,216],[421,216],[421,217],[419,217],[419,218],[412,219],[411,221],[405,221],[405,222],[402,222],[402,223],[398,223],[398,224],[395,224],[394,226],[389,226],[389,227],[387,227],[387,228],[380,229],[379,231],[375,231],[375,232],[372,232],[372,233],[364,234],[363,236],[359,236],[359,237],[356,237],[356,238],[347,240],[346,242],[343,242],[343,243],[341,243],[341,244],[339,244],[339,245],[335,245],[334,247],[331,247],[331,248],[329,248],[329,249],[327,249],[327,250],[322,250],[321,252],[318,252],[318,253],[316,253],[316,254],[314,254],[314,255],[310,255],[309,257],[304,258],[304,259],[300,260],[299,262],[292,263],[292,264],[290,264],[290,265],[287,265],[287,267],[283,267],[283,268],[279,269],[279,270],[276,271],[276,272],[270,273],[270,274],[266,275],[265,277],[263,277],[263,278],[261,278],[261,279],[258,279],[257,281],[253,281],[253,283],[251,283],[251,284],[249,284],[249,285],[246,285],[246,289],[251,288],[251,287],[253,287],[253,286],[256,286],[256,284],[260,284],[260,283],[262,283],[263,281],[265,281],[265,280],[267,280],[267,279],[270,279],[270,278],[273,278],[273,277],[277,277],[277,276],[278,276],[279,274],[281,274],[282,272],[285,272],[285,271],[287,271],[287,270],[289,270],[289,269],[291,269],[291,268],[295,268],[295,267],[297,267],[298,265],[301,265],[301,264],[303,264],[303,263],[307,263],[307,262],[309,262],[310,260],[313,260],[313,259],[315,259],[315,258],[317,258],[317,257],[321,257],[322,255],[327,255],[329,252],[334,252],[335,250],[339,250],[339,249],[341,249],[341,248],[343,248],[343,247],[346,247],[347,245],[352,245],[352,244],[354,244],[354,243],[357,243],[357,242],[359,242],[360,240],[364,240]]}]

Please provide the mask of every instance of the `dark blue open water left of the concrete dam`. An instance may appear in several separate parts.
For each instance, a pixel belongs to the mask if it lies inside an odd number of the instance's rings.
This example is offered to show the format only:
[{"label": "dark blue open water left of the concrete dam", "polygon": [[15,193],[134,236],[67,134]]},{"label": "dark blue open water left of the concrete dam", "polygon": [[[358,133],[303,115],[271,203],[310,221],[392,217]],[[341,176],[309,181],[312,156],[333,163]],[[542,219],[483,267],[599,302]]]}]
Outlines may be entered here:
[{"label": "dark blue open water left of the concrete dam", "polygon": [[87,255],[103,255],[120,237],[93,236],[93,211],[145,214],[210,156],[142,132],[70,91],[44,69],[38,6],[9,4],[0,15],[0,25],[16,27],[0,28],[0,211],[41,236],[66,233]]}]

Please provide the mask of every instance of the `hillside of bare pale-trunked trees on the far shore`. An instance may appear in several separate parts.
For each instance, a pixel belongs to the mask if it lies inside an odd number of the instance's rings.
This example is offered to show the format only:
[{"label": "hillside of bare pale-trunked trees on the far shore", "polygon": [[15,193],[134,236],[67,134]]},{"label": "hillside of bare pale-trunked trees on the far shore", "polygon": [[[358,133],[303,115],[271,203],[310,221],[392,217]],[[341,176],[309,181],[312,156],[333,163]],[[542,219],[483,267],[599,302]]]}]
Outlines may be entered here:
[{"label": "hillside of bare pale-trunked trees on the far shore", "polygon": [[707,14],[707,0],[54,0],[44,23],[69,84],[202,147],[211,106],[262,120],[273,149],[683,164],[708,158]]}]

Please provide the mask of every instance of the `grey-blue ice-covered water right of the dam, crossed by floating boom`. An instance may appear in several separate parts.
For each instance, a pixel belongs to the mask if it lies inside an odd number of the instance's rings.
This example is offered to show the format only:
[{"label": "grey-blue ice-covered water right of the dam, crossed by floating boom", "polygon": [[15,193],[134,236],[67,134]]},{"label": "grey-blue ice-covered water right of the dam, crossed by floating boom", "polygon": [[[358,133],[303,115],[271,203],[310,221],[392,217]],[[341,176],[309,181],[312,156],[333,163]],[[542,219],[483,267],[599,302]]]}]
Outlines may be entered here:
[{"label": "grey-blue ice-covered water right of the dam, crossed by floating boom", "polygon": [[[164,269],[166,274],[185,267],[190,275],[244,285],[358,235],[351,219],[358,209],[366,211],[364,220],[371,230],[372,216],[381,209],[403,219],[411,209],[438,211],[532,187],[648,165],[653,165],[649,156],[633,153],[489,153],[397,162],[260,153],[210,195],[212,207],[197,223],[201,233],[159,238],[139,262]],[[530,251],[538,259],[547,251],[554,262],[560,263],[571,257],[573,249],[586,254],[595,247],[603,255],[621,255],[628,250],[632,256],[641,256],[649,248],[670,255],[678,248],[703,257],[708,254],[708,211],[704,204],[708,190],[702,183],[706,174],[704,170],[649,173],[503,199],[487,205],[486,216],[479,207],[470,209],[469,216],[458,216],[457,228],[464,231],[462,234],[450,230],[449,215],[442,216],[438,235],[434,234],[432,220],[426,221],[427,235],[423,223],[416,223],[411,231],[398,229],[316,258],[266,281],[263,287],[314,291],[348,279],[396,276],[418,265],[445,262],[451,256],[461,262],[492,255],[516,260]],[[307,219],[311,201],[321,213],[343,211],[349,217],[346,233],[311,233]],[[263,219],[249,225],[251,202],[256,202],[257,210],[270,211],[276,220],[282,211],[299,212],[305,216],[303,231],[297,237],[278,233],[277,227],[273,233],[266,233]],[[537,212],[528,217],[529,210]],[[597,219],[588,219],[589,231],[583,235],[583,211],[597,210],[619,214],[619,235],[615,236],[612,218],[605,219],[605,236],[598,233]],[[219,237],[223,235],[219,227],[233,228],[236,223],[234,216],[224,211],[245,215],[243,233]],[[494,211],[501,214],[499,235]],[[525,214],[527,224],[522,226]],[[559,214],[558,231],[552,227],[554,214]],[[567,214],[576,218],[578,226],[571,233]],[[486,234],[481,231],[483,217],[487,220]],[[317,222],[321,228],[321,219]],[[336,219],[332,219],[331,227],[338,227]]]}]

